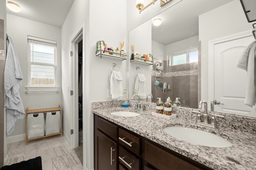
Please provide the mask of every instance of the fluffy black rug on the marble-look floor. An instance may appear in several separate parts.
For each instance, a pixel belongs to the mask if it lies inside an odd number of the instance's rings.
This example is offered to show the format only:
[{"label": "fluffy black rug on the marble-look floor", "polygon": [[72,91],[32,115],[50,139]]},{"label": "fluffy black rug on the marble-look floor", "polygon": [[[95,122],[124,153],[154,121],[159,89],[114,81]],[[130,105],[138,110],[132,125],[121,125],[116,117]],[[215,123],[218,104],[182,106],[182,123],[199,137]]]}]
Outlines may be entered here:
[{"label": "fluffy black rug on the marble-look floor", "polygon": [[38,156],[16,164],[3,166],[0,170],[42,170],[42,159]]}]

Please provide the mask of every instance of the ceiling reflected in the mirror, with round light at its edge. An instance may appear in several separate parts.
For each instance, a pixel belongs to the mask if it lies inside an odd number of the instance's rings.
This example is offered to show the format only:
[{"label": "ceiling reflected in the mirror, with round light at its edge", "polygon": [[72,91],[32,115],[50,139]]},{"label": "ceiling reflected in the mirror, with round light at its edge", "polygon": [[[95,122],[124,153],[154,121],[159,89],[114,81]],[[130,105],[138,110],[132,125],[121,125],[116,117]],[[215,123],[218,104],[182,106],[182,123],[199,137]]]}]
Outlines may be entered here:
[{"label": "ceiling reflected in the mirror, with round light at its edge", "polygon": [[152,40],[168,45],[194,37],[198,35],[198,16],[230,1],[232,0],[182,0],[154,17],[161,18],[162,24],[158,27],[152,25]]}]

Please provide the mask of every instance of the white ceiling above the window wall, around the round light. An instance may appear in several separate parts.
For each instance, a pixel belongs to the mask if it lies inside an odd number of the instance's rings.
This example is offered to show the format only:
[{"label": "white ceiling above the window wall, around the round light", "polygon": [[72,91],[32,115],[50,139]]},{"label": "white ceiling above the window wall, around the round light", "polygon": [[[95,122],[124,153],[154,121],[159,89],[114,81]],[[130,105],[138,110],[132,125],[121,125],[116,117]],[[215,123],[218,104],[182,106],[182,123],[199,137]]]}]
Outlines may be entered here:
[{"label": "white ceiling above the window wall, around the round light", "polygon": [[29,20],[62,27],[74,0],[6,0],[20,5],[21,12],[12,12],[6,8],[8,14],[13,14]]}]

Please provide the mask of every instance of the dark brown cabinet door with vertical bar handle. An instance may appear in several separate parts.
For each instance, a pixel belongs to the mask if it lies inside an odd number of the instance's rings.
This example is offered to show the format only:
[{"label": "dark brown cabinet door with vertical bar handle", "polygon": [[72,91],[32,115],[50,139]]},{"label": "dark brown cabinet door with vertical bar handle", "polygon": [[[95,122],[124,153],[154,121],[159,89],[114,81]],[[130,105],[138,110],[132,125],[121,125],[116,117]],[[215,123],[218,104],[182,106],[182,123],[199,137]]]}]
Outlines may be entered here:
[{"label": "dark brown cabinet door with vertical bar handle", "polygon": [[118,145],[95,130],[95,170],[117,170]]}]

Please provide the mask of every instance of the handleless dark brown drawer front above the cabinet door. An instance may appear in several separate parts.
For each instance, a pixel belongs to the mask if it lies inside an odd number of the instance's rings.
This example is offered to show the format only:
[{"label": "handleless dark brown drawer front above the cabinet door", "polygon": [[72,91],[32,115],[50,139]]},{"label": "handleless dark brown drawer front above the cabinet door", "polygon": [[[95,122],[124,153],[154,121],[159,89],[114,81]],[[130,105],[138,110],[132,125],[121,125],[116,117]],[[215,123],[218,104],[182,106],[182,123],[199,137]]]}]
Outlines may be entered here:
[{"label": "handleless dark brown drawer front above the cabinet door", "polygon": [[118,140],[118,126],[95,116],[95,128],[100,129],[100,131],[104,132],[115,141]]}]

